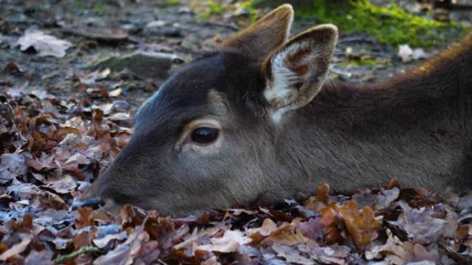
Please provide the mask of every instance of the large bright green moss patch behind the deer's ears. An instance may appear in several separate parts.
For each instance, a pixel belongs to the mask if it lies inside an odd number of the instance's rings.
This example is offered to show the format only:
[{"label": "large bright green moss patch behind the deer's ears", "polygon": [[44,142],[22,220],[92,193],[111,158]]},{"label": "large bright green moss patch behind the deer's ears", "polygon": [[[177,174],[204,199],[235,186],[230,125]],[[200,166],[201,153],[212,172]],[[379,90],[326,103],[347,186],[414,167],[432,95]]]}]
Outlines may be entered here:
[{"label": "large bright green moss patch behind the deer's ears", "polygon": [[[277,1],[276,1],[277,2]],[[254,0],[255,5],[274,1]],[[278,4],[278,3],[275,3]],[[314,23],[333,23],[343,32],[367,32],[381,43],[430,47],[454,39],[466,29],[457,22],[440,22],[406,12],[392,1],[388,8],[368,0],[294,1],[295,14]]]}]

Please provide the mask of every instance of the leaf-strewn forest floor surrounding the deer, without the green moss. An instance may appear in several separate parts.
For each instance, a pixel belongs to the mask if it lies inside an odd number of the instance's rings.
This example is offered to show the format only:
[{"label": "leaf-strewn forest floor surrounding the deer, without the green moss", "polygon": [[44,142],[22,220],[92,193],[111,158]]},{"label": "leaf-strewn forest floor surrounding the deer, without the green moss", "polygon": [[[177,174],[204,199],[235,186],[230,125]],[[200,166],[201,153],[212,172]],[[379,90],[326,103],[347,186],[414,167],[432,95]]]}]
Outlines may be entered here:
[{"label": "leaf-strewn forest floor surrounding the deer, without the green moss", "polygon": [[[169,2],[0,0],[0,264],[472,262],[471,196],[395,181],[183,219],[131,206],[119,216],[70,211],[173,70],[270,10]],[[297,19],[292,34],[312,25]],[[399,54],[375,36],[340,33],[330,78],[348,83],[383,81],[449,43]]]}]

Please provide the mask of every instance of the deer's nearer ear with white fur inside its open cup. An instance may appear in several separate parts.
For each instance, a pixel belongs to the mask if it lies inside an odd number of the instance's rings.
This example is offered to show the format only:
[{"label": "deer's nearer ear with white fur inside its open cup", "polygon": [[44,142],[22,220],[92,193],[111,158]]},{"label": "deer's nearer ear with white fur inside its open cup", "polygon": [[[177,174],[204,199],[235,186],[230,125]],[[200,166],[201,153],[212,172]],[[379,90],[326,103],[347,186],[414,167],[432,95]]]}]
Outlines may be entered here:
[{"label": "deer's nearer ear with white fur inside its open cup", "polygon": [[335,25],[319,25],[285,43],[263,63],[264,96],[278,123],[286,112],[304,107],[321,89],[337,41]]}]

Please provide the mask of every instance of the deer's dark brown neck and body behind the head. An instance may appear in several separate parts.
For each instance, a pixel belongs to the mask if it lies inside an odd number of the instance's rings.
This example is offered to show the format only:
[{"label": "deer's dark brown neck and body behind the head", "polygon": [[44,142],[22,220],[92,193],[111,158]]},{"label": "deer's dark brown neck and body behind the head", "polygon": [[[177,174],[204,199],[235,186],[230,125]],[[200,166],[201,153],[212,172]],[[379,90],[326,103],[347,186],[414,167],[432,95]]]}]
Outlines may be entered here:
[{"label": "deer's dark brown neck and body behind the head", "polygon": [[[472,37],[384,83],[328,83],[288,119],[272,173],[285,196],[333,189],[472,188]],[[276,178],[277,179],[277,178]],[[288,185],[287,183],[293,183]],[[283,191],[277,191],[275,198]],[[274,198],[274,199],[275,199]]]}]

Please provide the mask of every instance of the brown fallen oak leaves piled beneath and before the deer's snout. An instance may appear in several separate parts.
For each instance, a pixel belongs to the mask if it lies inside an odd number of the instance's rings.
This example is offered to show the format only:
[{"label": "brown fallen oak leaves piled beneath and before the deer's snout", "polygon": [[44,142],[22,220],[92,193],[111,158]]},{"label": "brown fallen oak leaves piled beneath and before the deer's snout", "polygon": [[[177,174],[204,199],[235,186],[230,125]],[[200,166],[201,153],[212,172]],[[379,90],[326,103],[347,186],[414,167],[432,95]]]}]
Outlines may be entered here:
[{"label": "brown fallen oak leaves piled beneath and before the deer's snout", "polygon": [[[70,204],[131,136],[110,98],[0,94],[1,264],[470,264],[472,198],[424,189],[332,194],[170,219]],[[101,94],[107,97],[108,94]]]}]

